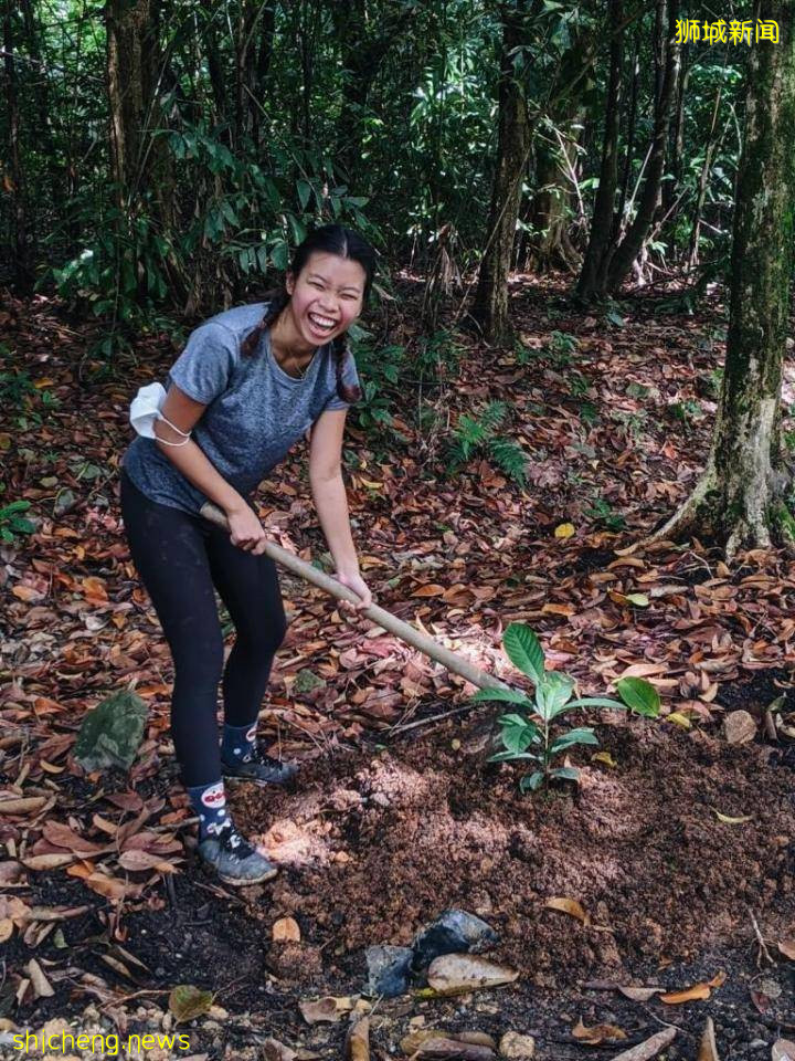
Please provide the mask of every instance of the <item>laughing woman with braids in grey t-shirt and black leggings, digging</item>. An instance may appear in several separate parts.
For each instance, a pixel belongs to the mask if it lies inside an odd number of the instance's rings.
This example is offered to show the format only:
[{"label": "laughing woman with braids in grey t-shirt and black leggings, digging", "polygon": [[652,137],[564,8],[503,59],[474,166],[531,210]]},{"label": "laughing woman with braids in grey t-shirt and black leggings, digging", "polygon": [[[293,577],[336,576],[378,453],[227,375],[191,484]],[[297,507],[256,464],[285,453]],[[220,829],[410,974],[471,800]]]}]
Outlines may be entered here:
[{"label": "laughing woman with braids in grey t-shirt and black leggings, digging", "polygon": [[[251,498],[309,430],[309,482],[336,577],[358,595],[358,609],[372,602],[340,463],[346,411],[361,396],[346,333],[362,312],[374,269],[373,249],[350,229],[311,232],[280,292],[221,313],[191,334],[169,372],[155,438],[137,438],[123,461],[125,532],[174,662],[171,733],[199,816],[198,851],[227,884],[254,884],[277,872],[227,816],[223,778],[279,785],[295,774],[256,739],[286,623]],[[229,534],[199,515],[208,500],[226,513]],[[236,632],[225,668],[213,587]]]}]

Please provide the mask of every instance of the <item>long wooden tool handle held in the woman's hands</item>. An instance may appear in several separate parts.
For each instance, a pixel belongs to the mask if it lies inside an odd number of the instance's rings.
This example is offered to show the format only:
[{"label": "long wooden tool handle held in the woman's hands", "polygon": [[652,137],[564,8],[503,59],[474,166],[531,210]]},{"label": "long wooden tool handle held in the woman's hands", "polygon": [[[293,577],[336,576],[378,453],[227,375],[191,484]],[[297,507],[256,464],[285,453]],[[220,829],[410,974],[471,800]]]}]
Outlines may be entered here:
[{"label": "long wooden tool handle held in the woman's hands", "polygon": [[[201,515],[210,523],[215,524],[215,526],[229,530],[226,515],[216,505],[213,505],[212,502],[208,501],[202,505]],[[359,597],[352,589],[348,589],[347,586],[338,582],[336,578],[331,578],[311,564],[307,564],[306,560],[296,556],[295,553],[288,553],[287,549],[283,549],[282,546],[276,545],[275,542],[267,542],[264,551],[266,556],[269,556],[271,559],[275,560],[282,567],[286,567],[287,570],[293,571],[294,575],[298,575],[307,582],[318,586],[338,600],[350,600],[354,605],[359,602]],[[402,619],[391,614],[391,612],[384,611],[384,609],[379,608],[378,605],[370,605],[361,614],[377,622],[389,633],[393,633],[396,638],[400,638],[401,641],[405,641],[406,644],[420,649],[421,652],[431,656],[432,660],[442,663],[448,671],[453,671],[454,674],[460,674],[462,677],[465,677],[479,689],[509,687],[498,677],[481,671],[475,666],[474,663],[470,663],[469,660],[465,660],[464,656],[457,655],[455,652],[446,649],[443,644],[439,644],[438,641],[434,641],[433,638],[409,626],[407,622],[403,622]]]}]

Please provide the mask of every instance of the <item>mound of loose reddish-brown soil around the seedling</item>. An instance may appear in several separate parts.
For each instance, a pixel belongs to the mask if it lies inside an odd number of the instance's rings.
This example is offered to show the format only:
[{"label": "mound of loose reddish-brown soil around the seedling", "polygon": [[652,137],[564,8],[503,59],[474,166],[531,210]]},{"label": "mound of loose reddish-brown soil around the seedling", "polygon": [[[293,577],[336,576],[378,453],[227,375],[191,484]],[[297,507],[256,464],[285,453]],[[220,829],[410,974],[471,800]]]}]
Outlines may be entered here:
[{"label": "mound of loose reddish-brown soil around the seedling", "polygon": [[[706,732],[633,719],[600,735],[617,765],[583,757],[577,792],[521,796],[517,768],[479,769],[453,728],[364,766],[361,753],[318,761],[297,795],[248,788],[237,819],[285,865],[268,917],[296,916],[327,974],[361,976],[361,948],[406,944],[459,906],[541,986],[751,942],[750,910],[772,938],[795,924],[789,769]],[[554,896],[591,924],[545,908]]]}]

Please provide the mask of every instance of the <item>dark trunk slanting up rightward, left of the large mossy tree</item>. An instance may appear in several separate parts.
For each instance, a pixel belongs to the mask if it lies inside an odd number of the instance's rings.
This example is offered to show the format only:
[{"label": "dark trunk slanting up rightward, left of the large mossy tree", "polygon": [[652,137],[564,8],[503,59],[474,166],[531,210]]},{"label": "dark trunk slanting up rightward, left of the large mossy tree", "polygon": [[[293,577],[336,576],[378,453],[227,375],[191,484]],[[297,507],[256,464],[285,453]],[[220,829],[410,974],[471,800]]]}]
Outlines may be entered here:
[{"label": "dark trunk slanting up rightward, left of the large mossy tree", "polygon": [[617,292],[624,279],[629,273],[635,259],[638,256],[644,241],[654,220],[657,201],[660,193],[660,181],[668,147],[668,130],[672,111],[674,94],[676,91],[679,71],[679,45],[675,43],[676,18],[678,0],[659,0],[658,10],[668,9],[666,25],[667,48],[665,74],[655,107],[655,128],[651,141],[651,154],[646,169],[643,191],[638,202],[635,220],[629,227],[624,240],[616,248],[607,272],[606,287],[610,292]]}]

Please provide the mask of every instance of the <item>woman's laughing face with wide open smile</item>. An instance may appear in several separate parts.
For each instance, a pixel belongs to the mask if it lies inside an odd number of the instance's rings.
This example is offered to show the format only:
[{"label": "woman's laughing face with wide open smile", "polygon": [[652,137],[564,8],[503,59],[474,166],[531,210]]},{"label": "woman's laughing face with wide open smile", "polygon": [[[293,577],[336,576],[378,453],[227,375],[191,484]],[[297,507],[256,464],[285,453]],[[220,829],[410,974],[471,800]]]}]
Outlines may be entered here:
[{"label": "woman's laughing face with wide open smile", "polygon": [[341,335],[362,312],[365,280],[359,262],[321,251],[310,254],[297,277],[287,274],[294,337],[314,348]]}]

